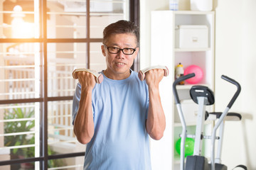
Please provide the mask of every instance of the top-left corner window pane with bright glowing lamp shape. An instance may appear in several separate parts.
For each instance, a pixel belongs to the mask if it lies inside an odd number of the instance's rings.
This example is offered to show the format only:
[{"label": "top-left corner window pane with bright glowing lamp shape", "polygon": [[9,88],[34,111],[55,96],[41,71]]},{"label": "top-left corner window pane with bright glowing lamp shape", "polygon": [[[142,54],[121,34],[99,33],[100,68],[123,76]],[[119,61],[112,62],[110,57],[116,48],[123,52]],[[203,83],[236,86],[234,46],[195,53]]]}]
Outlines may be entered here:
[{"label": "top-left corner window pane with bright glowing lamp shape", "polygon": [[1,38],[38,38],[38,3],[34,1],[0,2]]}]

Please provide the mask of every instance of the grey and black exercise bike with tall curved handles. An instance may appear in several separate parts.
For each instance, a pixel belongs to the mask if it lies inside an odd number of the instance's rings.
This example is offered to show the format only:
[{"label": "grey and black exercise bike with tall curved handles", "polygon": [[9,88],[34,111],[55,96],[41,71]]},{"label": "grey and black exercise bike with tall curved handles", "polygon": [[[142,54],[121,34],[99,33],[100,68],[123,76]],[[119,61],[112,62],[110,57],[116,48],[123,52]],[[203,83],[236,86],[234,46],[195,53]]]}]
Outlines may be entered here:
[{"label": "grey and black exercise bike with tall curved handles", "polygon": [[[225,111],[223,113],[220,112],[214,112],[214,113],[208,113],[206,111],[206,106],[213,105],[215,102],[213,91],[208,89],[207,86],[192,86],[190,90],[190,96],[192,100],[198,104],[198,115],[197,115],[197,122],[196,122],[196,135],[188,135],[186,132],[186,122],[183,116],[183,112],[181,109],[181,103],[179,100],[178,92],[176,89],[176,85],[181,82],[185,81],[186,79],[190,79],[192,77],[195,77],[195,74],[188,74],[186,76],[180,77],[179,79],[176,79],[173,84],[173,92],[174,92],[174,99],[176,102],[176,107],[178,110],[178,115],[181,120],[182,125],[182,132],[181,132],[181,170],[227,170],[227,166],[224,164],[221,164],[220,160],[220,154],[221,154],[221,148],[222,148],[222,142],[223,142],[223,128],[224,128],[224,122],[225,120],[241,120],[241,115],[239,113],[228,113],[230,108],[233,106],[233,103],[235,102],[236,98],[238,98],[238,95],[240,94],[241,87],[240,84],[230,79],[229,77],[222,76],[221,78],[229,81],[231,84],[235,84],[237,86],[237,91],[235,92],[233,98],[231,98],[230,102],[228,103],[228,106],[225,108]],[[213,132],[210,136],[203,135],[203,125],[204,121],[206,119],[210,120],[217,120],[215,123],[215,126],[213,128]],[[219,130],[219,136],[216,137],[216,132],[218,128]],[[184,156],[185,156],[185,140],[186,137],[193,137],[195,139],[194,149],[193,149],[193,156],[186,157],[186,167],[184,163]],[[202,148],[202,140],[203,139],[210,139],[211,145],[210,145],[210,164],[208,164],[208,159],[206,157],[203,157],[201,155],[201,148]],[[217,156],[215,157],[215,140],[219,140],[218,142],[218,152]],[[246,166],[238,165],[239,167],[242,167],[243,169],[247,169]]]}]

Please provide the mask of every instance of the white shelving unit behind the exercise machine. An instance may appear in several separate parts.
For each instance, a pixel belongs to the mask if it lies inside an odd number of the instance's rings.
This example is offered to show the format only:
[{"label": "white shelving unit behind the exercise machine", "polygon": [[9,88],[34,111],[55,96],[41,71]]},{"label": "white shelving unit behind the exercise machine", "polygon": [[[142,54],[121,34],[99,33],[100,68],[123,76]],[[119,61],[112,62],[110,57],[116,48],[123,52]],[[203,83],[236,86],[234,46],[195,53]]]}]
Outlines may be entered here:
[{"label": "white shelving unit behind the exercise machine", "polygon": [[[208,27],[208,47],[206,48],[178,48],[175,46],[175,29],[180,25],[204,25]],[[166,114],[166,126],[171,128],[165,132],[173,146],[171,152],[171,167],[169,169],[178,169],[179,155],[174,149],[178,134],[181,132],[181,123],[177,120],[178,113],[174,103],[172,84],[176,65],[181,62],[184,69],[191,64],[196,64],[203,69],[203,79],[196,85],[208,86],[214,91],[214,33],[215,33],[215,12],[202,11],[152,11],[151,12],[151,65],[164,64],[169,68],[169,77],[166,78],[160,86],[161,101]],[[168,79],[168,80],[167,80]],[[189,90],[195,84],[178,85],[178,94],[181,102],[191,100]],[[189,102],[188,102],[189,103]],[[194,106],[193,106],[194,105]],[[182,103],[181,103],[182,106]],[[198,111],[196,103],[183,105],[183,114]],[[187,107],[187,108],[186,108]],[[193,107],[193,108],[191,108]],[[194,111],[193,111],[194,110]],[[214,110],[213,106],[207,106],[206,111]],[[194,113],[196,116],[196,113]],[[196,121],[187,123],[188,131],[193,131],[196,127]],[[209,132],[211,124],[206,123],[205,132]],[[188,132],[189,133],[189,132]],[[208,146],[208,142],[204,142]],[[210,142],[209,142],[210,145]],[[204,154],[210,155],[210,148],[205,149]],[[170,159],[169,157],[167,159]],[[167,161],[167,160],[164,160]],[[170,161],[170,160],[169,160]]]}]

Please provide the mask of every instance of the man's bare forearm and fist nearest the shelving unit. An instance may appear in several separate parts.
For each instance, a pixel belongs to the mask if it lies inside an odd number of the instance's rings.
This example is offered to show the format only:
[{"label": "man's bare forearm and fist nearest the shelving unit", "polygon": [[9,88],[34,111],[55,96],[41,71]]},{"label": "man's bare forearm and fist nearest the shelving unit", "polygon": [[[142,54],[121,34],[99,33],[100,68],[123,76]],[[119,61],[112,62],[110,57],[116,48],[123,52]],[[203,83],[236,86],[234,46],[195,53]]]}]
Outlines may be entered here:
[{"label": "man's bare forearm and fist nearest the shelving unit", "polygon": [[146,131],[154,140],[160,140],[166,128],[164,109],[161,106],[159,95],[159,83],[163,77],[163,69],[152,69],[146,73],[146,84],[149,86],[149,112],[146,120]]}]

